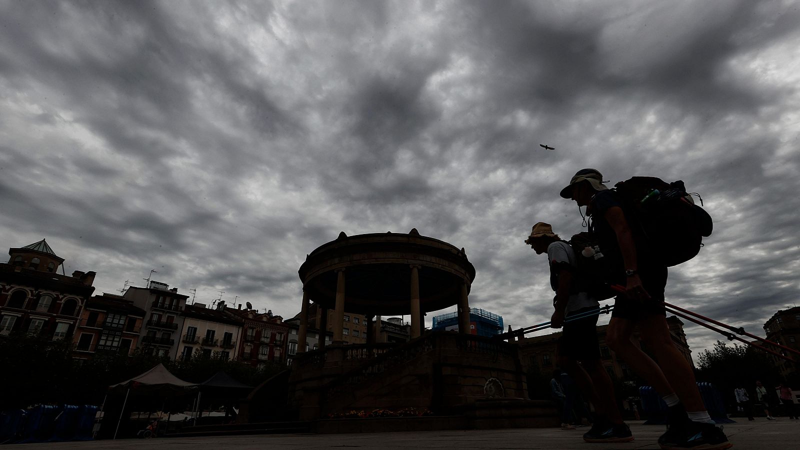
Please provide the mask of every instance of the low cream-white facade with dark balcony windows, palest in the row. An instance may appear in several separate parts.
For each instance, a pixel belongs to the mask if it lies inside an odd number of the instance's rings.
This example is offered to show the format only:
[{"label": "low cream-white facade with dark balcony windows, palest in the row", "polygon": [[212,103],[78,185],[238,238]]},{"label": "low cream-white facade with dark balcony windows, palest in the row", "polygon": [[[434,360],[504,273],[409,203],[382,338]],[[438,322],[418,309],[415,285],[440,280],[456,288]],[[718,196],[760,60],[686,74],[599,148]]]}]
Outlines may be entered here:
[{"label": "low cream-white facade with dark balcony windows, palest in the row", "polygon": [[180,345],[174,359],[188,360],[195,352],[203,357],[218,356],[229,360],[238,355],[242,345],[243,321],[226,311],[225,303],[216,308],[206,307],[204,303],[187,304],[180,314],[182,327],[178,328]]}]

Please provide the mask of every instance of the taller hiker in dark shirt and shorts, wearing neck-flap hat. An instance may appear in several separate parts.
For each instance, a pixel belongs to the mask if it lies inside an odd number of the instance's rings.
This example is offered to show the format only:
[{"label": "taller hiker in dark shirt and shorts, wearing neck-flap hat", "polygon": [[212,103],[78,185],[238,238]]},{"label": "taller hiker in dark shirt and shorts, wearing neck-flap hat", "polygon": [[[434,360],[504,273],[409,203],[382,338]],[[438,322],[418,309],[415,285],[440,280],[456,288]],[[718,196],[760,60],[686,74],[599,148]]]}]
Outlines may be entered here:
[{"label": "taller hiker in dark shirt and shorts, wearing neck-flap hat", "polygon": [[[659,259],[658,249],[648,247],[640,235],[636,216],[616,191],[603,184],[602,174],[596,169],[578,171],[561,196],[586,207],[590,232],[616,273],[610,283],[624,287],[614,303],[606,342],[653,385],[670,407],[669,428],[658,444],[666,449],[730,448],[727,437],[706,411],[689,362],[672,343],[664,307],[666,265]],[[637,326],[658,364],[631,342]]]}]

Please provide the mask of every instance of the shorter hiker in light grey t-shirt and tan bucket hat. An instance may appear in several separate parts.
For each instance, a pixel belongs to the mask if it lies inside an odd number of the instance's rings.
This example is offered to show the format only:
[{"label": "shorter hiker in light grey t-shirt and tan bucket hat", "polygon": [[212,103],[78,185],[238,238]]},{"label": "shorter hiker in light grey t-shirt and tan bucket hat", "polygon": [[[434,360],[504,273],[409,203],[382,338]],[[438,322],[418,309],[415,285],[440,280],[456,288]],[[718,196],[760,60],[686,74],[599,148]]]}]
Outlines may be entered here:
[{"label": "shorter hiker in light grey t-shirt and tan bucket hat", "polygon": [[[549,223],[544,222],[534,225],[525,243],[537,255],[546,253],[550,263],[550,287],[556,292],[550,326],[563,327],[557,344],[558,365],[578,384],[582,394],[590,398],[597,412],[592,429],[584,434],[583,439],[588,442],[634,440],[630,428],[622,422],[614,398],[614,384],[602,365],[597,334],[600,305],[589,293],[580,291],[578,283],[575,283],[578,266],[573,248],[553,232]],[[564,427],[568,420],[569,415],[565,412],[562,428],[569,428]]]}]

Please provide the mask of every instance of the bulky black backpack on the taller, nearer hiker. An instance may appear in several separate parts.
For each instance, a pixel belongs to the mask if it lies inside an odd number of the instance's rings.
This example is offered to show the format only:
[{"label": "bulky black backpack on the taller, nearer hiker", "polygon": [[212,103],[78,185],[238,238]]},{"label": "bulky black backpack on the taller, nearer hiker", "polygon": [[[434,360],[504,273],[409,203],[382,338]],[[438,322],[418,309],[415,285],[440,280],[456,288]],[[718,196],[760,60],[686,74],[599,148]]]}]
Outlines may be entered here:
[{"label": "bulky black backpack on the taller, nearer hiker", "polygon": [[[667,267],[694,258],[702,238],[711,235],[711,216],[694,204],[681,180],[666,183],[655,177],[633,177],[614,185],[627,212],[636,218],[651,255]],[[702,202],[702,200],[701,200]]]}]

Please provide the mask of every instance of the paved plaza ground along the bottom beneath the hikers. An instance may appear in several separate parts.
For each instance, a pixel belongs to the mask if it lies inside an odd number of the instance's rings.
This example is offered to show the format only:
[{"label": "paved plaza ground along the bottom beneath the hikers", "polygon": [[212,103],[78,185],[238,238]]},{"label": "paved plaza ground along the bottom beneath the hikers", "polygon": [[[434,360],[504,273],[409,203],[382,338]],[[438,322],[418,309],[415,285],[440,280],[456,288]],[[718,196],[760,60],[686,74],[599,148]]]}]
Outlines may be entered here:
[{"label": "paved plaza ground along the bottom beneath the hikers", "polygon": [[[658,448],[656,440],[664,430],[659,425],[630,423],[636,440],[626,444],[587,444],[581,439],[585,428],[563,431],[558,428],[516,428],[506,430],[468,430],[441,432],[390,432],[364,434],[250,435],[224,437],[158,438],[151,440],[96,440],[52,444],[14,444],[3,448],[91,450],[166,448],[168,450],[218,449],[283,449],[363,448],[392,450],[395,448],[525,448],[542,450],[566,449],[639,449]],[[800,450],[800,420],[782,419],[768,422],[759,418],[726,424],[725,432],[741,450]]]}]

